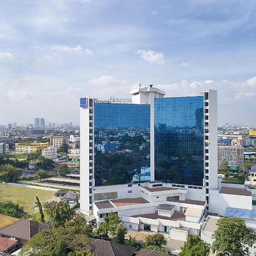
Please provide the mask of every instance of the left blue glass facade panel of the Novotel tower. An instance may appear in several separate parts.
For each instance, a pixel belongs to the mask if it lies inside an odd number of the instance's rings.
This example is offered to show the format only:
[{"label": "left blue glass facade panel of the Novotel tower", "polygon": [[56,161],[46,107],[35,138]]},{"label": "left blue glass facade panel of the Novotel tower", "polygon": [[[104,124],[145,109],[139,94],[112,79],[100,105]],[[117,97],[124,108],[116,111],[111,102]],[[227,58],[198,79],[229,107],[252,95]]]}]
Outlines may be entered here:
[{"label": "left blue glass facade panel of the Novotel tower", "polygon": [[150,105],[94,103],[95,185],[150,180]]}]

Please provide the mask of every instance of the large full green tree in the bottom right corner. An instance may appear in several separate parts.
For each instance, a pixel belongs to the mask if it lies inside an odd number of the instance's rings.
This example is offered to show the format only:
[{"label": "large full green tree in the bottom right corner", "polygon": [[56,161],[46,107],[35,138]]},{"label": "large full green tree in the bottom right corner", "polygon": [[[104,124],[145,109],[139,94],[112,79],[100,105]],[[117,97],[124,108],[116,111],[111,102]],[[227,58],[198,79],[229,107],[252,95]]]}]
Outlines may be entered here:
[{"label": "large full green tree in the bottom right corner", "polygon": [[245,221],[237,217],[223,217],[217,222],[217,230],[213,233],[213,253],[220,256],[250,255],[249,246],[256,241],[256,233],[247,228]]}]

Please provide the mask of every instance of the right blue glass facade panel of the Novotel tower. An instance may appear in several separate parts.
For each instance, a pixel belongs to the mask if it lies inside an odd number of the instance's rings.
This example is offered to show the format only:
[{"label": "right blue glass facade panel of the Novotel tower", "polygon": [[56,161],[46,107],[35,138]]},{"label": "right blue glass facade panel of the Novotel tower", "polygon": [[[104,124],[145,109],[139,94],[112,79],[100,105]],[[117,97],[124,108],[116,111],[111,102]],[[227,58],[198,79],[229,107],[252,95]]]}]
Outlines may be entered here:
[{"label": "right blue glass facade panel of the Novotel tower", "polygon": [[203,185],[204,98],[155,98],[155,180]]}]

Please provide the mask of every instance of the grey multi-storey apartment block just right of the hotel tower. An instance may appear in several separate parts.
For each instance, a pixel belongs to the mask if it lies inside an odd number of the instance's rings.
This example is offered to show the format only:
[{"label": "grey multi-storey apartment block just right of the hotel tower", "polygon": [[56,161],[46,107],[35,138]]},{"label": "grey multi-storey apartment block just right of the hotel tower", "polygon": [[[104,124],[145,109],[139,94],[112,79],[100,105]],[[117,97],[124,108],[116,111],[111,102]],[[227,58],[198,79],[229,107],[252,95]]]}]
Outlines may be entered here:
[{"label": "grey multi-storey apartment block just right of the hotel tower", "polygon": [[243,171],[243,146],[222,146],[218,145],[218,167],[228,163],[230,171]]}]

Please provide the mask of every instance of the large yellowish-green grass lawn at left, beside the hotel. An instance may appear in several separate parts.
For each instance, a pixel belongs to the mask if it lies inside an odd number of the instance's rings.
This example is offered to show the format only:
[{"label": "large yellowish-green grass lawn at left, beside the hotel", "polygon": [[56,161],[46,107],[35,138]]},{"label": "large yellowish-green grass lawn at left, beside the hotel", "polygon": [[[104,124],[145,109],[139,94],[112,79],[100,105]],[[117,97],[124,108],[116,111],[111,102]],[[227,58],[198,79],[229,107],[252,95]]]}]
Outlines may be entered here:
[{"label": "large yellowish-green grass lawn at left, beside the hotel", "polygon": [[38,196],[43,204],[47,201],[52,201],[55,197],[55,192],[43,189],[0,184],[0,201],[14,201],[14,203],[22,205],[24,210],[31,215],[35,213],[35,196]]}]

